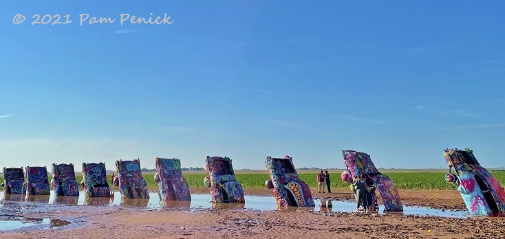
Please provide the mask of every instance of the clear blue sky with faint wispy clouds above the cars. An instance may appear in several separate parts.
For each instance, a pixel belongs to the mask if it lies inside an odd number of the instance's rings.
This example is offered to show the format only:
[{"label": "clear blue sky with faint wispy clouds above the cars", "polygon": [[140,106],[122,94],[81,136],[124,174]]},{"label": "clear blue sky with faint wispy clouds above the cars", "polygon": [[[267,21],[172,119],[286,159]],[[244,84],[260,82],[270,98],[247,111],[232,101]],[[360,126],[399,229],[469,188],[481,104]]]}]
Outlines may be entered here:
[{"label": "clear blue sky with faint wispy clouds above the cars", "polygon": [[[505,3],[3,1],[0,166],[504,167]],[[79,24],[79,14],[114,23]],[[171,16],[125,23],[120,14]],[[13,24],[16,14],[25,22]],[[72,23],[34,24],[34,14]],[[65,21],[65,19],[61,19]]]}]

